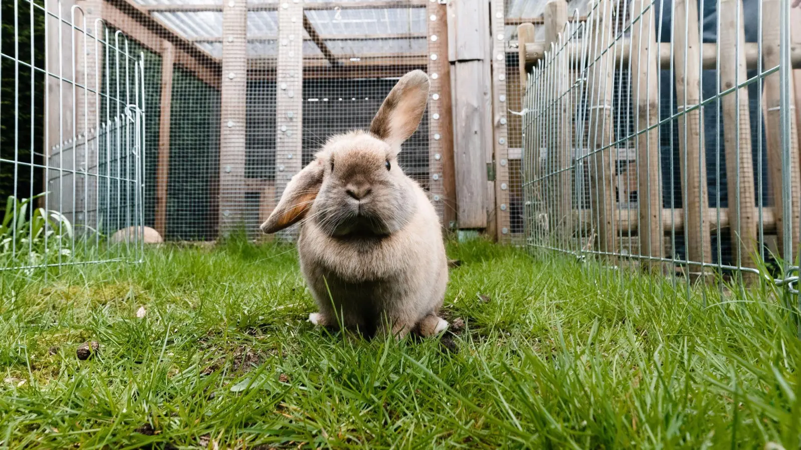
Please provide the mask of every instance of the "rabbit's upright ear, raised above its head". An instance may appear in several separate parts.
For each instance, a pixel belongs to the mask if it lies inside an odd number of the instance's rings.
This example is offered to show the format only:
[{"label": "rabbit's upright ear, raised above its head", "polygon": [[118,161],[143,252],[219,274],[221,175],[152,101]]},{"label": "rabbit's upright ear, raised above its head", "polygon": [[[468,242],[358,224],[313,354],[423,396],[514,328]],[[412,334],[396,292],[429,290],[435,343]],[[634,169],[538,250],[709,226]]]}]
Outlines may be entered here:
[{"label": "rabbit's upright ear, raised above its head", "polygon": [[429,75],[413,70],[398,80],[370,123],[370,132],[392,147],[409,139],[429,100]]}]

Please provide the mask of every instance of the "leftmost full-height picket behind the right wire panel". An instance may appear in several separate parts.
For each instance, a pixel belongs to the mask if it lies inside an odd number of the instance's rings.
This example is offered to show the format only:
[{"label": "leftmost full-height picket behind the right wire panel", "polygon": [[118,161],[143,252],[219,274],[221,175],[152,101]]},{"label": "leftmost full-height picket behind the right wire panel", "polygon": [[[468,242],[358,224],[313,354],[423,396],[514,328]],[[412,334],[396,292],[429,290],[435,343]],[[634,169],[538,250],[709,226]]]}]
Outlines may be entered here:
[{"label": "leftmost full-height picket behind the right wire panel", "polygon": [[[610,46],[614,39],[614,23],[612,2],[601,0],[594,11],[595,24],[593,54],[600,54]],[[593,220],[598,229],[598,250],[614,252],[618,250],[615,243],[614,226],[614,142],[612,124],[612,94],[614,81],[614,54],[612,50],[598,56],[598,60],[590,66],[589,102],[590,102],[590,149],[594,151],[590,158],[590,203],[593,207]],[[593,186],[594,185],[594,186]],[[594,189],[593,189],[594,187]]]}]

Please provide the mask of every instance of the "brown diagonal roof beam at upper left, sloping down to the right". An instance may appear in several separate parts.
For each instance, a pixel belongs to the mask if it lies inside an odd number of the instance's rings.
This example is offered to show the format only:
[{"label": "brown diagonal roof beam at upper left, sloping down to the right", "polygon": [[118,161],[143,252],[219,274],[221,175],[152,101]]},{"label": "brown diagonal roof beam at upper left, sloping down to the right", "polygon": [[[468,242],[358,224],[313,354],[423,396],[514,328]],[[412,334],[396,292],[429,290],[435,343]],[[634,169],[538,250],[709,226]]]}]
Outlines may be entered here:
[{"label": "brown diagonal roof beam at upper left, sloping down to the right", "polygon": [[103,19],[108,26],[123,31],[155,53],[161,53],[163,40],[169,41],[173,45],[175,64],[189,70],[207,85],[219,89],[219,61],[136,6],[131,6],[127,0],[104,0]]}]

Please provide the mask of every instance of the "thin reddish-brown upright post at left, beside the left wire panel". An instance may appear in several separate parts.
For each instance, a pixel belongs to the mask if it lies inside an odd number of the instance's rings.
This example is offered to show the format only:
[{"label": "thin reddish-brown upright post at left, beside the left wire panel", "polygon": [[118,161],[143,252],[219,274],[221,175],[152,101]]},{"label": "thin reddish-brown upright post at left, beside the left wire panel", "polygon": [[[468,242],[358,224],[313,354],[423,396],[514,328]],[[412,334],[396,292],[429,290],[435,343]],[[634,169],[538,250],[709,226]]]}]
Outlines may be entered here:
[{"label": "thin reddish-brown upright post at left, beside the left wire panel", "polygon": [[159,115],[159,158],[155,168],[155,231],[167,238],[167,183],[170,176],[170,120],[172,72],[175,53],[169,41],[162,42],[161,114]]}]

